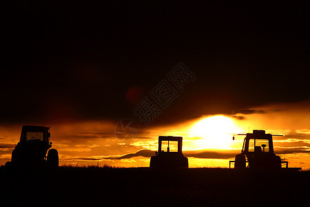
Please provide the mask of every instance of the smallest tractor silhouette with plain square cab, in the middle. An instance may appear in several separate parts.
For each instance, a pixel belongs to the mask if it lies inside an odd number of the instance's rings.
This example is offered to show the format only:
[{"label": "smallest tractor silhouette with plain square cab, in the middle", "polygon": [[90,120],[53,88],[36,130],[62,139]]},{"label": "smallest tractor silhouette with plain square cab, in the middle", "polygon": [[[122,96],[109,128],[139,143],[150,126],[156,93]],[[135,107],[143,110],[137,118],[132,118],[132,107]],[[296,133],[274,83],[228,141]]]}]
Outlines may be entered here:
[{"label": "smallest tractor silhouette with plain square cab, in the middle", "polygon": [[[158,152],[151,157],[149,167],[153,169],[188,168],[188,159],[182,153],[183,137],[159,136]],[[163,141],[167,141],[167,151],[162,150]],[[171,151],[170,142],[177,142],[177,150]]]}]

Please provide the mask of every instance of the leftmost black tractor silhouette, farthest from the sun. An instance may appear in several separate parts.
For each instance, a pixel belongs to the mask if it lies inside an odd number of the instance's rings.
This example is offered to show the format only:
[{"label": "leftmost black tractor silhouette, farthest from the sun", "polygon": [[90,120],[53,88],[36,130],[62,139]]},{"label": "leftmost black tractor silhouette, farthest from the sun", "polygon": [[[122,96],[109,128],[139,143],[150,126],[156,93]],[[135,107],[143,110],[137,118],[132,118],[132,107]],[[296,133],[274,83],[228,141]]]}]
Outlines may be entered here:
[{"label": "leftmost black tractor silhouette, farthest from the sun", "polygon": [[[59,166],[58,151],[50,149],[51,147],[50,127],[23,126],[21,128],[21,139],[12,151],[12,159],[6,163],[6,166],[57,168]],[[47,152],[48,156],[46,156]]]}]

